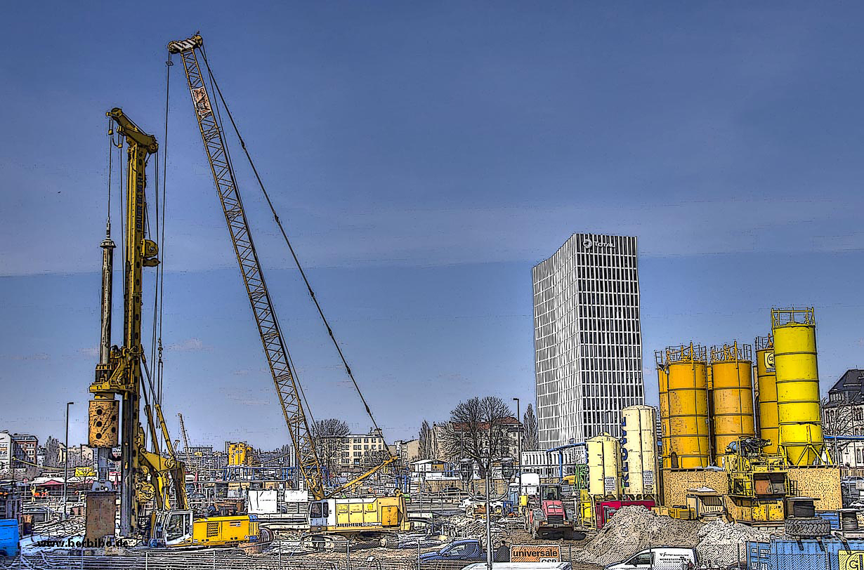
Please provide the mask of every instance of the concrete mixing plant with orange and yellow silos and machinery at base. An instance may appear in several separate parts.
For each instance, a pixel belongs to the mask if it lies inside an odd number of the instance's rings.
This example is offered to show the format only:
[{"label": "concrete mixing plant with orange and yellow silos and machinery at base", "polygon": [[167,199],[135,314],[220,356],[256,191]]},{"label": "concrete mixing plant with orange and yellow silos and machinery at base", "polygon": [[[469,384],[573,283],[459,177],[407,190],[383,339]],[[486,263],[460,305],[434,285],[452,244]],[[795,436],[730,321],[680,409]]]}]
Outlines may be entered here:
[{"label": "concrete mixing plant with orange and yellow silos and machinery at base", "polygon": [[725,514],[804,536],[823,529],[814,512],[842,507],[840,468],[823,439],[813,309],[772,309],[771,332],[756,339],[755,355],[737,342],[655,353],[659,487],[670,516]]}]

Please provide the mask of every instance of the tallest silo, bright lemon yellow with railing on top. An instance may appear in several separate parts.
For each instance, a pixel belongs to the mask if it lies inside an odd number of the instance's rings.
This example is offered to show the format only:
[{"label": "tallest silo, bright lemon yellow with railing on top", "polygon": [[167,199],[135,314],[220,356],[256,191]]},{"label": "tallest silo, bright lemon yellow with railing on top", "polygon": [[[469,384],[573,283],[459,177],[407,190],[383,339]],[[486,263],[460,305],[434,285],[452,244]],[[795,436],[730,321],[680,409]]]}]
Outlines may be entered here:
[{"label": "tallest silo, bright lemon yellow with railing on top", "polygon": [[809,466],[823,451],[812,308],[772,309],[780,447],[793,466]]}]

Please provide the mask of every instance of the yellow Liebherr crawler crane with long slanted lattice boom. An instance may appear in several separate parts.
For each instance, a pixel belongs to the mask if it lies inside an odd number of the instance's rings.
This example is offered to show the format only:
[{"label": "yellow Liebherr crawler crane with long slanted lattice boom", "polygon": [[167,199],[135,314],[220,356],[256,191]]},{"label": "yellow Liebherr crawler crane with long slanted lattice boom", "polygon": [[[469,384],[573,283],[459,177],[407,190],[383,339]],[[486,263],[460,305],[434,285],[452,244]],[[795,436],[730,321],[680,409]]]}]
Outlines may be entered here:
[{"label": "yellow Liebherr crawler crane with long slanted lattice boom", "polygon": [[[203,47],[203,39],[196,34],[186,40],[169,42],[168,53],[179,54],[183,62],[201,140],[204,142],[207,161],[210,164],[211,174],[213,174],[213,182],[219,193],[219,200],[225,213],[228,231],[231,234],[234,253],[237,256],[252,313],[255,315],[261,343],[264,345],[264,354],[267,357],[273,383],[276,386],[276,395],[282,405],[285,423],[294,444],[297,468],[306,489],[314,497],[314,502],[309,505],[310,529],[325,534],[350,535],[365,534],[367,531],[407,530],[410,528],[410,523],[407,521],[405,503],[401,494],[396,497],[334,498],[342,491],[359,485],[365,478],[391,465],[396,460],[391,454],[388,453],[389,457],[384,459],[380,465],[360,474],[345,485],[330,491],[325,489],[321,460],[315,451],[314,434],[309,428],[308,415],[303,409],[300,385],[291,363],[282,329],[276,319],[276,311],[264,281],[261,263],[258,261],[249,221],[246,218],[243,201],[238,192],[231,157],[222,134],[219,111],[212,104],[213,99],[207,92],[206,79],[200,66],[199,54],[201,54],[211,81],[213,81],[213,75],[209,73],[209,65]],[[216,89],[218,90],[218,85],[216,85]],[[219,93],[219,97],[221,98],[221,93]],[[225,105],[223,104],[223,106]],[[231,120],[233,123],[233,119]],[[245,143],[241,141],[241,144],[245,149]],[[276,220],[278,222],[277,217]],[[311,289],[309,290],[311,294]],[[321,316],[323,317],[323,314]],[[328,332],[332,336],[329,326]],[[366,410],[369,411],[368,406],[366,406]],[[371,415],[371,412],[369,413]]]}]

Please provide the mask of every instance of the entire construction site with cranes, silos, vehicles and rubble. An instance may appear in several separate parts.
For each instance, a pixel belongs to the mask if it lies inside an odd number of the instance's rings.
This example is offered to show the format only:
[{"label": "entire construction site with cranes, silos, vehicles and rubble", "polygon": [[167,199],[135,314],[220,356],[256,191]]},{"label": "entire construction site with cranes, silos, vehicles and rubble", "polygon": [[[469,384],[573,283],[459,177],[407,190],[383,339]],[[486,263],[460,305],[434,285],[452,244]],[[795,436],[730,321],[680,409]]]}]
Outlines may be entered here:
[{"label": "entire construction site with cranes, silos, vehicles and rubble", "polygon": [[[60,478],[57,468],[0,482],[0,567],[852,570],[849,561],[864,555],[864,504],[854,504],[860,478],[836,457],[838,446],[864,436],[826,433],[812,307],[759,315],[763,330],[740,332],[752,345],[694,341],[654,351],[659,406],[617,410],[615,434],[523,450],[517,417],[516,457],[493,456],[489,445],[486,467],[466,458],[406,460],[387,445],[355,380],[252,160],[254,142],[241,136],[207,60],[204,38],[169,41],[165,55],[168,73],[181,74],[187,111],[199,127],[237,287],[251,308],[246,324],[257,327],[261,365],[283,412],[272,423],[287,431],[287,444],[261,453],[249,441],[229,441],[226,463],[216,465],[212,448],[190,445],[183,415],[181,433],[169,432],[164,410],[183,402],[162,401],[156,337],[165,239],[159,185],[167,157],[160,159],[149,125],[162,117],[139,116],[118,101],[105,110],[109,161],[119,162],[108,169],[122,172],[109,180],[108,199],[120,195],[124,216],[109,213],[101,260],[93,258],[94,268],[101,263],[101,311],[86,409],[92,459],[74,476]],[[167,111],[165,122],[167,132]],[[372,427],[366,437],[381,442],[353,470],[328,466],[315,433],[314,415],[332,411],[310,409],[303,392],[292,359],[300,357],[289,351],[276,308],[289,303],[274,299],[265,280],[253,241],[261,230],[253,231],[238,189],[240,160],[254,173],[247,187],[270,209],[266,231],[282,238],[344,368],[350,396],[338,398],[359,402]],[[117,274],[122,291],[113,287]],[[145,312],[156,315],[152,338]],[[120,326],[112,324],[118,314]],[[491,440],[492,421],[480,428]],[[549,471],[526,472],[524,451],[544,453]],[[658,561],[670,549],[687,554],[664,567]]]}]

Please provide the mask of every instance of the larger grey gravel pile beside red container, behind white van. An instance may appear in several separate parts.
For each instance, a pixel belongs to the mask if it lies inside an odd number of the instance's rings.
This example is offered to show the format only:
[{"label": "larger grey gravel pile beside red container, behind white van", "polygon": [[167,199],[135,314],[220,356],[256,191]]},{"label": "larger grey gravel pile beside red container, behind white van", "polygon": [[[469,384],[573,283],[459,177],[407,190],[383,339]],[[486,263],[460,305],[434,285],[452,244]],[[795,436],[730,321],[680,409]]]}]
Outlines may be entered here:
[{"label": "larger grey gravel pile beside red container, behind white van", "polygon": [[592,564],[623,561],[651,547],[696,547],[702,525],[670,516],[658,516],[641,506],[626,506],[608,520],[574,560]]}]

